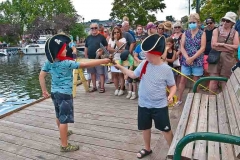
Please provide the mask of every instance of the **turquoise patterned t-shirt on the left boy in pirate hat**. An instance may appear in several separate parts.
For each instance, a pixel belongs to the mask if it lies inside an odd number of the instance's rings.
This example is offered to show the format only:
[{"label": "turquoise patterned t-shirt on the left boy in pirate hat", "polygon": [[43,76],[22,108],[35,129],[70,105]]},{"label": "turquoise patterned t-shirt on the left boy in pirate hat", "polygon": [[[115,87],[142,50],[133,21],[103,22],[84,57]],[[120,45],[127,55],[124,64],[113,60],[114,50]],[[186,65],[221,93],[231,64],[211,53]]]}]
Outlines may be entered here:
[{"label": "turquoise patterned t-shirt on the left boy in pirate hat", "polygon": [[42,71],[48,72],[52,76],[51,92],[60,92],[63,94],[72,94],[73,69],[78,69],[80,63],[64,60],[50,63],[46,61]]}]

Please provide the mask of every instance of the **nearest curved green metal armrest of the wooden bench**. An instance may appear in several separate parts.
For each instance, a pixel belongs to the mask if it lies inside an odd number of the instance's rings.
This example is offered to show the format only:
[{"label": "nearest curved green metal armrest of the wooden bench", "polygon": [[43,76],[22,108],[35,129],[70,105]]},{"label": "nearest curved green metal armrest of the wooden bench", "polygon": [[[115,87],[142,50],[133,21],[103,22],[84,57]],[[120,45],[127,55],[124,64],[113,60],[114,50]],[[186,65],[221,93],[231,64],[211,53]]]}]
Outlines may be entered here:
[{"label": "nearest curved green metal armrest of the wooden bench", "polygon": [[227,134],[218,134],[210,132],[198,132],[191,133],[183,137],[177,144],[173,160],[181,160],[181,154],[183,148],[190,142],[196,140],[208,140],[214,142],[230,143],[240,146],[240,137],[227,135]]}]

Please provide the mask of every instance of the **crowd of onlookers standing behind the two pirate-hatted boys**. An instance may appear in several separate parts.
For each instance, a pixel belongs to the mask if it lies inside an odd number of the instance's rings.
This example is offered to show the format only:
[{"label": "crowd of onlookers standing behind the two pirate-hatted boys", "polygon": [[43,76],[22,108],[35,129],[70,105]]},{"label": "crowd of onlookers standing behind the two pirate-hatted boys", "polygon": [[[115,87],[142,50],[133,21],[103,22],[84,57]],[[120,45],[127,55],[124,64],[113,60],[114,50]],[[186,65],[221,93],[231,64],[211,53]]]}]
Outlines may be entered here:
[{"label": "crowd of onlookers standing behind the two pirate-hatted boys", "polygon": [[[231,67],[236,63],[235,53],[239,45],[239,35],[234,27],[237,15],[228,12],[221,19],[219,27],[216,27],[215,20],[212,17],[206,18],[205,27],[202,27],[200,17],[197,13],[191,14],[188,19],[188,29],[184,30],[182,23],[165,21],[163,23],[149,22],[146,26],[137,25],[135,30],[130,29],[128,17],[123,17],[123,22],[113,27],[112,31],[96,23],[90,26],[90,35],[85,41],[85,57],[90,59],[96,58],[96,51],[99,44],[102,43],[110,53],[122,44],[126,43],[125,48],[121,49],[114,55],[115,60],[121,60],[121,55],[129,55],[134,58],[134,63],[141,63],[146,59],[145,53],[142,52],[141,43],[144,39],[152,34],[158,34],[166,38],[166,50],[162,58],[176,70],[179,70],[186,76],[193,76],[193,80],[201,76],[223,76],[228,77],[231,74]],[[228,34],[230,36],[228,37]],[[224,40],[228,40],[224,43]],[[209,64],[207,61],[208,54],[212,49],[221,51],[219,61],[216,64]],[[128,51],[128,52],[126,52]],[[126,56],[125,56],[126,57]],[[131,59],[131,58],[130,58]],[[131,61],[130,61],[131,62]],[[130,69],[134,70],[134,63],[130,63]],[[108,78],[108,70],[111,72],[111,78]],[[90,92],[105,92],[104,83],[113,82],[115,85],[114,95],[121,96],[124,94],[125,81],[128,86],[126,98],[137,98],[138,79],[130,79],[124,76],[120,70],[114,66],[109,69],[98,66],[88,69],[89,86],[93,86]],[[99,87],[97,88],[96,73],[100,76]],[[178,99],[176,105],[182,103],[182,94],[186,86],[187,78],[174,72],[175,80],[178,86]],[[210,81],[208,84],[211,91],[216,92],[218,83]],[[223,84],[224,86],[224,84]]]}]

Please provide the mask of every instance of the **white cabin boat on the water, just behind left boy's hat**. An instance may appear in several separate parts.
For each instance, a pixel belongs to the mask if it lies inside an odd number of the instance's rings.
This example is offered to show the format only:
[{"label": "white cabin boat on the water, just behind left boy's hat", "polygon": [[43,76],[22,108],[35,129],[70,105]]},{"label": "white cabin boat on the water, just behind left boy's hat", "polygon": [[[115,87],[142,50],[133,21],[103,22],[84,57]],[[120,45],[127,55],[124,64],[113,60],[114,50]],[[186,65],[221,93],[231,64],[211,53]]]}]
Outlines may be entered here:
[{"label": "white cabin boat on the water, just behind left boy's hat", "polygon": [[26,47],[21,48],[22,52],[25,55],[45,54],[45,43],[51,36],[52,35],[40,35],[37,43],[29,44]]}]

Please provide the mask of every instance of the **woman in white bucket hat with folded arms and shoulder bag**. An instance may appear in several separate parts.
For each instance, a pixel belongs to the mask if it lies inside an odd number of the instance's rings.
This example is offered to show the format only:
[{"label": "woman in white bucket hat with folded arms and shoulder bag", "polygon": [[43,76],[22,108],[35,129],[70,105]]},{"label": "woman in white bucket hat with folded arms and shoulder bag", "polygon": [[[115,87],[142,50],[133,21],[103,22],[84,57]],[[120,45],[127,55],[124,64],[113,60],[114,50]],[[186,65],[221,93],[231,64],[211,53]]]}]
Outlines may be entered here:
[{"label": "woman in white bucket hat with folded arms and shoulder bag", "polygon": [[[229,78],[231,75],[231,68],[236,63],[234,55],[239,45],[238,32],[233,28],[233,25],[236,23],[236,18],[237,15],[235,13],[227,12],[222,18],[222,26],[213,31],[212,48],[221,51],[221,54],[217,64],[208,65],[210,76]],[[221,84],[222,87],[224,87],[226,83],[221,82]],[[210,81],[209,89],[216,92],[217,88],[218,82]]]}]

